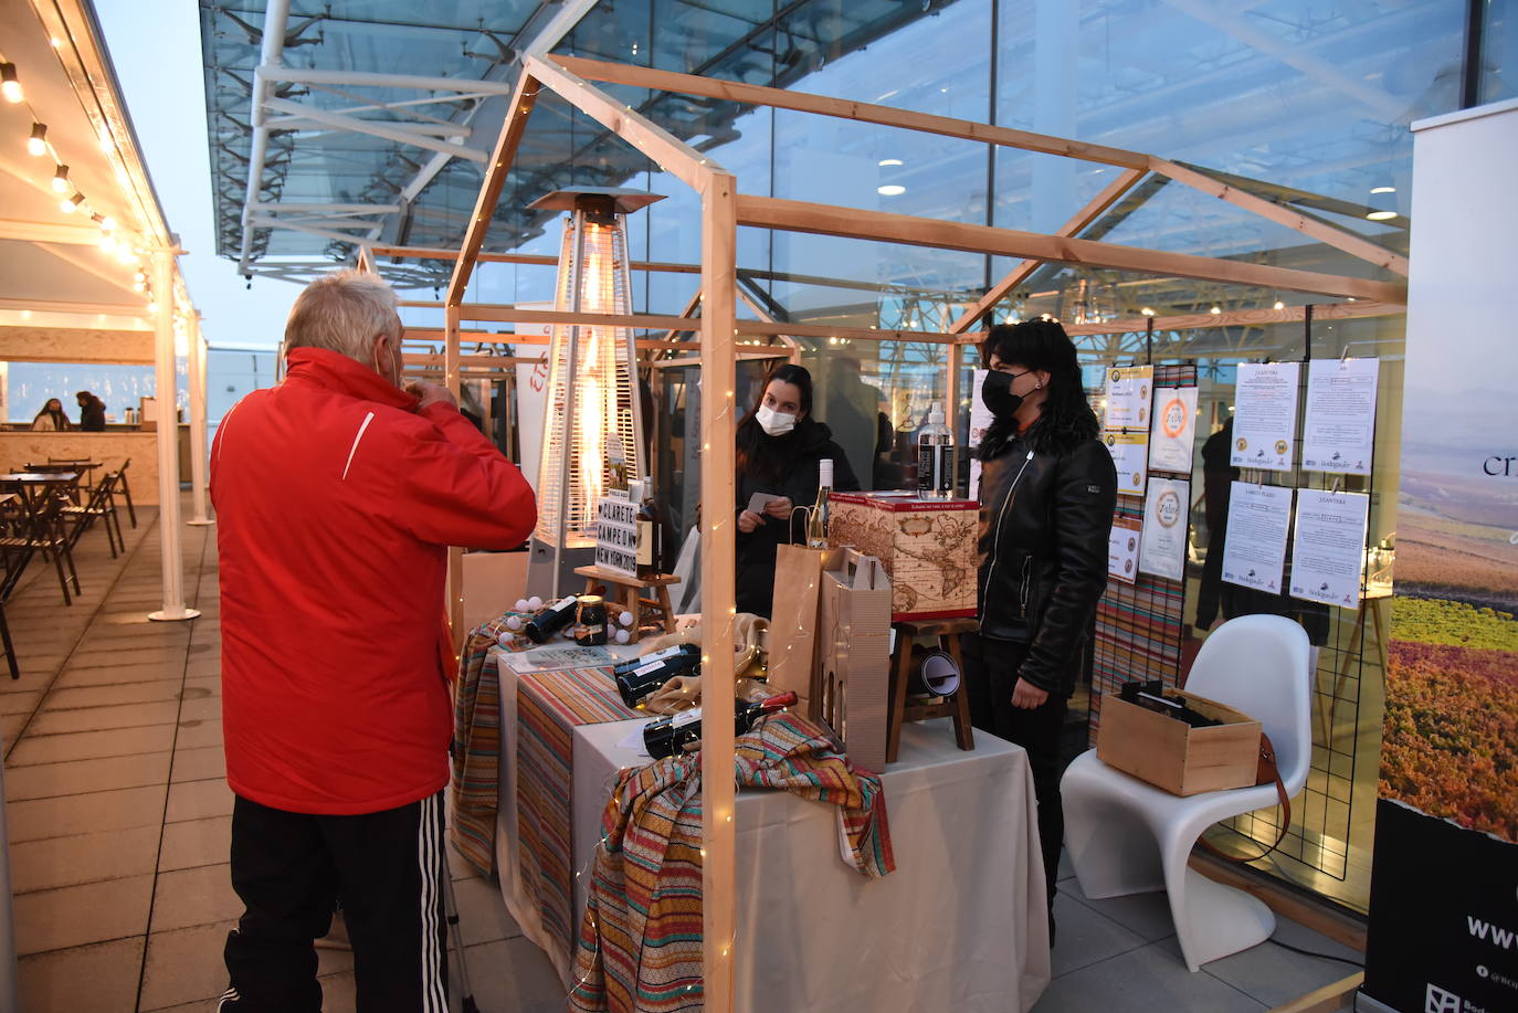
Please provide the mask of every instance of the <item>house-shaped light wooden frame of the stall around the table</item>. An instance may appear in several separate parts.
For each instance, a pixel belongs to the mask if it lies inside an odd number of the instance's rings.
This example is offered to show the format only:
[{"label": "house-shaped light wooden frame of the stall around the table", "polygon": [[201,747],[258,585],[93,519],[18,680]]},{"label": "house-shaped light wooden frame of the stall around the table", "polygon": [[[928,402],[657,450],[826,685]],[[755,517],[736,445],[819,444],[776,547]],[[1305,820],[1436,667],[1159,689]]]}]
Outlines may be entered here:
[{"label": "house-shaped light wooden frame of the stall around the table", "polygon": [[[607,82],[674,91],[744,105],[773,106],[830,115],[861,123],[920,131],[958,140],[984,141],[1029,152],[1061,155],[1108,166],[1123,172],[1094,199],[1081,208],[1057,232],[1044,235],[985,225],[943,222],[903,214],[835,208],[800,200],[783,200],[742,194],[736,178],[694,147],[651,123],[630,106],[618,102],[592,82]],[[700,264],[635,263],[636,270],[666,270],[698,273],[701,278],[697,298],[688,304],[682,316],[659,314],[589,314],[550,313],[519,310],[510,305],[466,304],[465,292],[480,263],[516,263],[556,266],[553,257],[525,254],[481,252],[486,232],[501,199],[507,173],[516,158],[518,147],[527,131],[533,105],[543,88],[551,90],[591,118],[601,123],[621,140],[633,144],[645,156],[657,163],[700,194],[701,200],[701,261]],[[676,334],[700,334],[701,386],[707,396],[701,398],[701,500],[704,503],[732,503],[735,488],[733,433],[736,425],[735,363],[739,334],[780,339],[794,354],[798,337],[852,337],[861,340],[937,342],[949,346],[947,357],[947,402],[958,406],[958,377],[961,349],[979,340],[973,328],[1017,284],[1028,278],[1043,263],[1082,264],[1128,272],[1181,276],[1228,284],[1257,286],[1263,289],[1307,292],[1327,295],[1345,302],[1321,304],[1321,317],[1384,316],[1401,311],[1406,301],[1406,286],[1400,282],[1372,281],[1343,275],[1316,273],[1254,264],[1237,260],[1195,257],[1152,251],[1135,246],[1076,238],[1076,235],[1116,204],[1146,173],[1160,173],[1175,182],[1208,193],[1271,222],[1284,225],[1321,243],[1340,249],[1351,257],[1365,260],[1394,275],[1407,275],[1407,260],[1374,241],[1353,232],[1334,228],[1318,219],[1296,213],[1287,205],[1275,204],[1246,190],[1216,181],[1193,169],[1178,166],[1164,158],[1131,152],[1101,144],[1088,144],[1028,131],[1014,131],[968,120],[912,112],[882,105],[850,102],[806,93],[785,91],[747,85],[732,80],[716,80],[692,74],[628,67],[572,56],[542,59],[527,56],[516,91],[507,108],[501,135],[487,161],[484,184],[475,202],[474,214],[461,249],[413,249],[404,246],[373,246],[361,254],[360,263],[373,269],[373,257],[416,257],[452,260],[454,270],[448,284],[448,296],[442,304],[427,304],[445,313],[445,352],[442,368],[448,387],[458,392],[461,369],[460,330],[465,320],[489,320],[512,323],[565,323],[565,325],[615,325],[666,331],[665,340],[639,340],[639,348],[657,351],[668,346],[689,348],[689,343],[674,342]],[[947,331],[882,331],[874,328],[841,328],[832,325],[777,323],[774,320],[738,320],[738,269],[735,260],[736,231],[739,225],[815,232],[885,243],[903,243],[940,249],[967,251],[976,254],[999,254],[1019,257],[1022,261],[985,293]],[[698,319],[689,314],[700,304]],[[1271,323],[1302,319],[1302,308],[1248,310],[1228,314],[1193,314],[1154,319],[1155,328],[1187,330],[1219,327],[1227,323]],[[1120,320],[1102,325],[1070,327],[1079,334],[1107,334],[1143,331],[1149,320]],[[413,336],[417,333],[413,331]],[[436,333],[430,333],[436,334]],[[525,337],[513,337],[515,343],[536,343]],[[542,339],[539,339],[542,340]],[[428,357],[427,364],[437,363]],[[422,364],[422,363],[417,363]],[[730,617],[733,604],[733,529],[730,510],[707,512],[707,525],[701,532],[701,658],[712,685],[721,685],[730,677],[733,635],[730,623],[712,621],[715,617]],[[449,557],[451,612],[457,624],[461,620],[461,554],[454,550]],[[724,693],[709,694],[703,700],[704,721],[701,735],[701,787],[703,787],[703,974],[706,1008],[713,1013],[732,1010],[733,999],[733,929],[735,929],[735,779],[733,779],[733,699]]]}]

